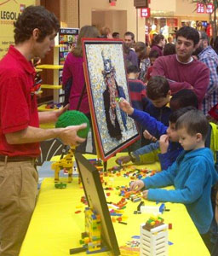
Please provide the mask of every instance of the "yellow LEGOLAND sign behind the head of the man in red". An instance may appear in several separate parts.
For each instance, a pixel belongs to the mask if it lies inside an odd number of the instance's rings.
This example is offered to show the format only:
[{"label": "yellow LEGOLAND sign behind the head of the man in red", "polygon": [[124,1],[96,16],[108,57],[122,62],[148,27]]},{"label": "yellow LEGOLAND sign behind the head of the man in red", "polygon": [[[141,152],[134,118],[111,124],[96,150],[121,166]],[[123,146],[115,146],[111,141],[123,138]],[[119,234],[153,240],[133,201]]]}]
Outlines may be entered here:
[{"label": "yellow LEGOLAND sign behind the head of the man in red", "polygon": [[29,5],[35,5],[35,0],[0,0],[0,59],[14,44],[14,21]]}]

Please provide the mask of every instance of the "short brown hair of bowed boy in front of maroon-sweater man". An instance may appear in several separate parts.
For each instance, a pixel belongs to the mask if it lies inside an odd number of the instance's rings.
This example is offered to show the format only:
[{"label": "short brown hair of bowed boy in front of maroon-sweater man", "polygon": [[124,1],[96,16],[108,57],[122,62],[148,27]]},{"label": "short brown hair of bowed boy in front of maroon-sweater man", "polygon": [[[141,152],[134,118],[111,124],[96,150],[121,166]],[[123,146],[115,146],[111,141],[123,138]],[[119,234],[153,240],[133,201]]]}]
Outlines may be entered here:
[{"label": "short brown hair of bowed boy in front of maroon-sweater man", "polygon": [[146,95],[151,100],[166,97],[169,90],[168,80],[161,76],[152,77],[146,85]]}]

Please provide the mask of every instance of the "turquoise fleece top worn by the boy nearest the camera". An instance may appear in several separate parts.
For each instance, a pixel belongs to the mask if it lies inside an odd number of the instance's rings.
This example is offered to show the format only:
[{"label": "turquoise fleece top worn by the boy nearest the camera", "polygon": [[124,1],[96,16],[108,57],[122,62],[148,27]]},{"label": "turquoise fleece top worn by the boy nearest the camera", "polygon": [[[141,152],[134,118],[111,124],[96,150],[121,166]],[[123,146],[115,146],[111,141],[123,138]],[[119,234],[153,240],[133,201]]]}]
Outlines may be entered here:
[{"label": "turquoise fleece top worn by the boy nearest the camera", "polygon": [[[183,151],[165,172],[143,179],[148,200],[183,203],[200,234],[205,234],[213,218],[211,187],[218,180],[209,148]],[[174,185],[175,190],[155,189]]]}]

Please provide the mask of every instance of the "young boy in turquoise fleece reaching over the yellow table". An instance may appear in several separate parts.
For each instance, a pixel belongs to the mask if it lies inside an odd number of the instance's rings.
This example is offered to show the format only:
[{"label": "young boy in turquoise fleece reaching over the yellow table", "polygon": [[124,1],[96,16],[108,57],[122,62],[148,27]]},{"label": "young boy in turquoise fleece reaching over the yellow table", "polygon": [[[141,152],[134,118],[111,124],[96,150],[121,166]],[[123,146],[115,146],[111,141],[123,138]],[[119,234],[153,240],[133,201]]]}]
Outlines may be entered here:
[{"label": "young boy in turquoise fleece reaching over the yellow table", "polygon": [[[203,239],[213,218],[211,187],[218,180],[213,155],[204,148],[209,123],[199,110],[184,113],[176,122],[184,151],[166,171],[131,183],[130,189],[143,191],[149,201],[183,203]],[[175,190],[157,189],[174,185]]]}]

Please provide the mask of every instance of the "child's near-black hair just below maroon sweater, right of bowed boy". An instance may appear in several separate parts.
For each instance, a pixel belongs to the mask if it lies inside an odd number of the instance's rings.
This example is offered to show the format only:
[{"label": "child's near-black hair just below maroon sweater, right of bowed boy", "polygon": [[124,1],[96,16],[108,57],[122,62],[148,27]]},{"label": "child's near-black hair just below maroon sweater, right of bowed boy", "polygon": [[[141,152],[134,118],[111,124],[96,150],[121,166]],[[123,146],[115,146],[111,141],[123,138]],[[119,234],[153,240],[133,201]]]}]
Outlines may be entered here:
[{"label": "child's near-black hair just below maroon sweater, right of bowed boy", "polygon": [[171,97],[169,106],[172,111],[188,106],[198,109],[198,97],[192,90],[182,89]]}]

